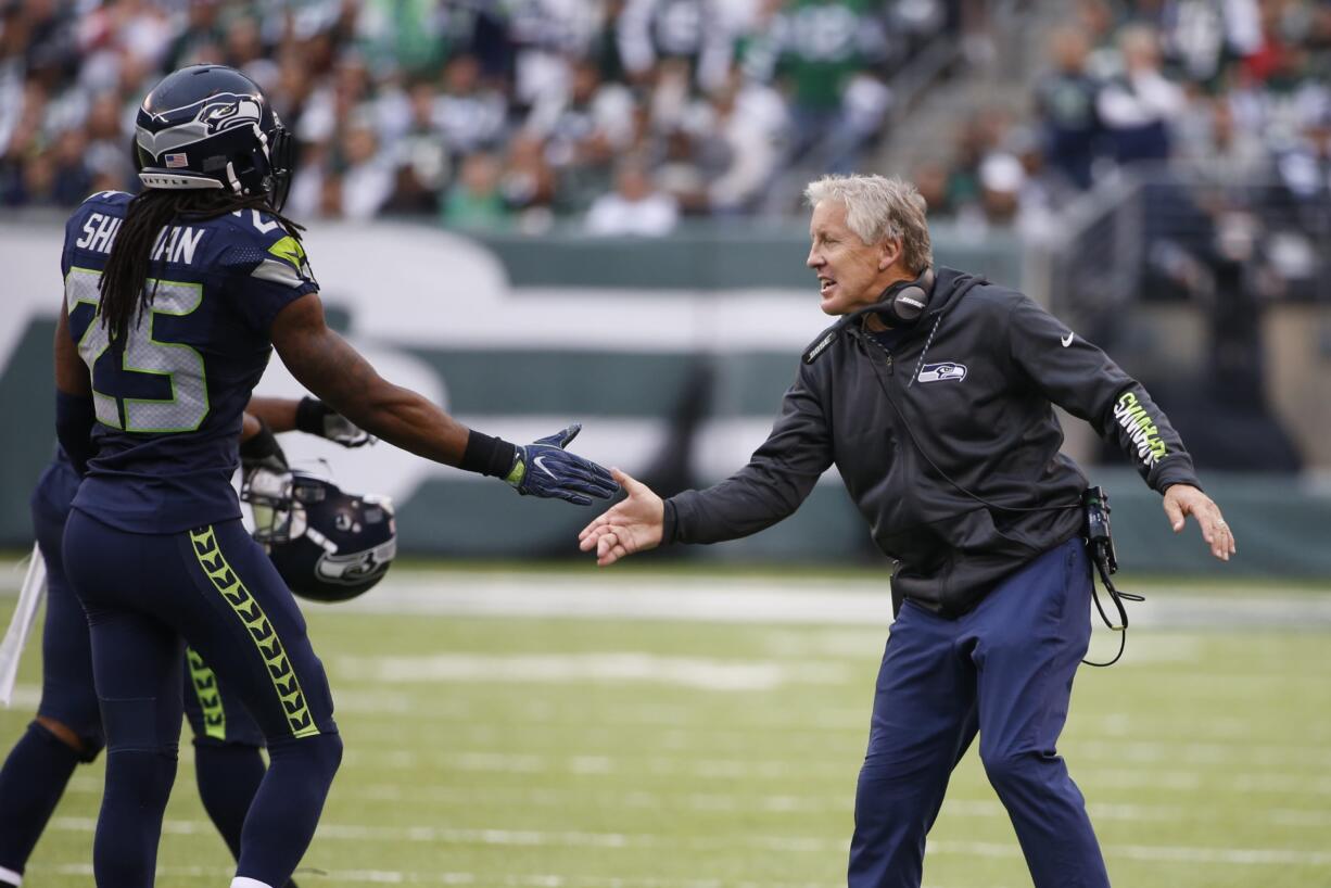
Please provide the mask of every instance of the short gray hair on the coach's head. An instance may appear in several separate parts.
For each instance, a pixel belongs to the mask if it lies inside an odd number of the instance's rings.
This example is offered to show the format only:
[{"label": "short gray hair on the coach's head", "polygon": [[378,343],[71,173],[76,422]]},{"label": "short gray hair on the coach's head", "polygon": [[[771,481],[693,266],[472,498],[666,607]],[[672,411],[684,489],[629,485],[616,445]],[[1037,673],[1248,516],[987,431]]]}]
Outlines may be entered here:
[{"label": "short gray hair on the coach's head", "polygon": [[933,265],[928,204],[901,178],[884,176],[824,176],[804,189],[809,206],[835,201],[845,206],[845,224],[865,244],[901,240],[906,269],[918,274]]}]

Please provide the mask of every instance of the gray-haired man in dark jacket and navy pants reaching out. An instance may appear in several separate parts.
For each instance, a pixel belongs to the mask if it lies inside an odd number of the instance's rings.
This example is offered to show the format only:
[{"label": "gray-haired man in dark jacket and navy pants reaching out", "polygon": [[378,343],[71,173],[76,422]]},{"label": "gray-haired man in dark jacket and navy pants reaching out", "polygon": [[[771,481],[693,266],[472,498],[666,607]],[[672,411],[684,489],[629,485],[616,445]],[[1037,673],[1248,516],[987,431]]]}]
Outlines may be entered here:
[{"label": "gray-haired man in dark jacket and navy pants reaching out", "polygon": [[793,513],[836,465],[900,603],[882,658],[855,801],[852,888],[918,888],[925,835],[976,734],[1037,888],[1109,876],[1057,754],[1090,640],[1086,477],[1059,453],[1058,405],[1115,441],[1193,515],[1211,553],[1234,537],[1178,434],[1139,383],[1030,298],[937,273],[925,202],[881,176],[825,177],[808,266],[840,316],[804,353],[771,437],[707,490],[628,499],[580,535],[598,563],[662,543],[712,543]]}]

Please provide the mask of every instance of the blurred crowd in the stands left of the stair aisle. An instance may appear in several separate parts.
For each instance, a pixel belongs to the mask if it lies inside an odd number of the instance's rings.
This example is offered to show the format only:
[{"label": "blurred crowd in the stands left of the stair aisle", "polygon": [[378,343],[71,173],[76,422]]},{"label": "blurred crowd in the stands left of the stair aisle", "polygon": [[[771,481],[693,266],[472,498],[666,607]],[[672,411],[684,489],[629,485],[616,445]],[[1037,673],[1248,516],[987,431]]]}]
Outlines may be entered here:
[{"label": "blurred crowd in the stands left of the stair aisle", "polygon": [[[658,234],[852,170],[974,0],[0,0],[0,205],[134,189],[138,101],[233,65],[298,145],[297,217]],[[797,194],[797,192],[796,192]]]}]

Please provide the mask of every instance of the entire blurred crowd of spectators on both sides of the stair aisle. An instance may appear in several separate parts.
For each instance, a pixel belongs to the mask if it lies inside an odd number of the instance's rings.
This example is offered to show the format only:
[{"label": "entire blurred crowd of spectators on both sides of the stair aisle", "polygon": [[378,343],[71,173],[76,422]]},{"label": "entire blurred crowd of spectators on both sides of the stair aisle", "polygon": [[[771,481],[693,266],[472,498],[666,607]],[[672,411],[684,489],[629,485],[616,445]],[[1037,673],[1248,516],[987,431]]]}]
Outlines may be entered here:
[{"label": "entire blurred crowd of spectators on both sides of the stair aisle", "polygon": [[[689,216],[789,213],[811,176],[873,166],[893,76],[978,33],[984,8],[0,0],[0,205],[133,190],[142,95],[216,61],[262,85],[295,134],[298,217],[660,234]],[[1046,237],[1070,197],[1161,161],[1278,181],[1295,201],[1331,193],[1324,0],[1069,0],[1025,92],[1029,108],[958,121],[950,150],[909,170],[934,217]]]}]

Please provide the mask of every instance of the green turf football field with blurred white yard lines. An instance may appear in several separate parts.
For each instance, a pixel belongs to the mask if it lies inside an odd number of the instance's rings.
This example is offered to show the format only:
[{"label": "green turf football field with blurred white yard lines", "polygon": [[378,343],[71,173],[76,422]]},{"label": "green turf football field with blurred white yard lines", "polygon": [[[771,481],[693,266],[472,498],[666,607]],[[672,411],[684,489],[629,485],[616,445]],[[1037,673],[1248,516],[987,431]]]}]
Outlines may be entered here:
[{"label": "green turf football field with blurred white yard lines", "polygon": [[[781,580],[731,572],[603,571],[587,584],[632,602],[651,594],[644,584],[679,582],[736,599],[747,622],[598,614],[576,596],[556,602],[562,615],[483,615],[480,604],[516,591],[540,600],[547,576],[403,576],[366,607],[307,610],[347,754],[302,885],[844,884],[885,639],[877,620],[832,608],[828,622],[785,611],[764,622],[763,590]],[[1189,592],[1198,607],[1225,611],[1230,596],[1209,603],[1199,591]],[[878,606],[865,582],[828,595]],[[0,620],[13,600],[0,598]],[[1316,592],[1282,600],[1295,614],[1300,600],[1324,603]],[[1125,663],[1082,670],[1062,752],[1115,885],[1331,885],[1331,624],[1288,623],[1158,620],[1134,632]],[[36,703],[39,668],[29,648],[17,706],[0,710],[5,750]],[[186,744],[161,885],[216,887],[232,872],[192,768]],[[79,771],[25,884],[91,884],[100,781],[100,763]],[[932,835],[925,884],[1030,884],[974,751]]]}]

